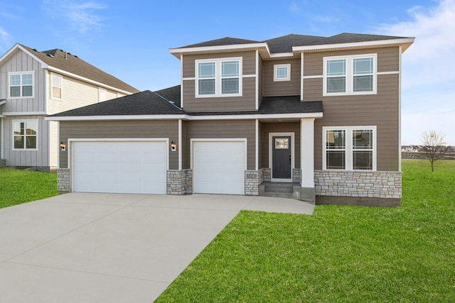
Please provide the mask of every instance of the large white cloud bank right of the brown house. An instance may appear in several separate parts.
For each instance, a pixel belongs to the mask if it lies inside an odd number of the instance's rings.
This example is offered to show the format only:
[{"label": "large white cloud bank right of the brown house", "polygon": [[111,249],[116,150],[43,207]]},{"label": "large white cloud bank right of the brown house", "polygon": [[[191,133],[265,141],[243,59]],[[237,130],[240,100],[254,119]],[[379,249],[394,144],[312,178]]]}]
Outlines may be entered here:
[{"label": "large white cloud bank right of the brown house", "polygon": [[402,55],[402,143],[418,144],[434,129],[455,145],[455,0],[407,13],[410,21],[378,28],[383,35],[415,37]]}]

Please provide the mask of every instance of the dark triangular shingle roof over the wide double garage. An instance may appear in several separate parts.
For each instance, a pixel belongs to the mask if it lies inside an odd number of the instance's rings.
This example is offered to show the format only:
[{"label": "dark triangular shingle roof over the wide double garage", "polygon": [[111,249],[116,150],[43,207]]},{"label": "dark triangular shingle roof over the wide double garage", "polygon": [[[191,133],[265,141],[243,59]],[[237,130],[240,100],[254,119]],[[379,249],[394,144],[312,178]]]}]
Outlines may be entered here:
[{"label": "dark triangular shingle roof over the wide double garage", "polygon": [[89,106],[63,111],[58,116],[124,116],[124,115],[175,115],[185,114],[154,92],[144,91]]}]

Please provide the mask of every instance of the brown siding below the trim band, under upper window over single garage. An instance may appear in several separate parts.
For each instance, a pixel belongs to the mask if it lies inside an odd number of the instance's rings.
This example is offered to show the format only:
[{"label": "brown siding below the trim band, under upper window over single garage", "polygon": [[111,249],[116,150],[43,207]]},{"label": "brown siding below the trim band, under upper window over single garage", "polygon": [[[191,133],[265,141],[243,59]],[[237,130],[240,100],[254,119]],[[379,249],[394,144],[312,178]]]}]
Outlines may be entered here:
[{"label": "brown siding below the trim band, under upper window over single garage", "polygon": [[196,98],[195,80],[183,82],[183,109],[189,112],[199,111],[254,111],[256,109],[256,79],[242,79],[241,97]]}]

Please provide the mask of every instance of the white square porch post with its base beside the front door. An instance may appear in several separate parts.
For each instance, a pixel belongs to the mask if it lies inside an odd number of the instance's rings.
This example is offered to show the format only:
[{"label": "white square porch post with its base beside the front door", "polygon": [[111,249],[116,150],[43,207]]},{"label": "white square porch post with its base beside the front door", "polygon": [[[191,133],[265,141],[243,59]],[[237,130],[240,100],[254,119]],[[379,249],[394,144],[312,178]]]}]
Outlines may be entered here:
[{"label": "white square porch post with its base beside the front door", "polygon": [[301,119],[300,142],[301,199],[314,202],[314,119]]}]

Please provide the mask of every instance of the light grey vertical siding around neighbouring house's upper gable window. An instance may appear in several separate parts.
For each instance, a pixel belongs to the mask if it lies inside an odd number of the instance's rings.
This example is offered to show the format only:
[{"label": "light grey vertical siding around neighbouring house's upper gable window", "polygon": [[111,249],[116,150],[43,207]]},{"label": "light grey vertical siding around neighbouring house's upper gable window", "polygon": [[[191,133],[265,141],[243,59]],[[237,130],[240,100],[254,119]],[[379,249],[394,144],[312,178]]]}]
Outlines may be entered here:
[{"label": "light grey vertical siding around neighbouring house's upper gable window", "polygon": [[[34,98],[9,99],[9,72],[33,72]],[[11,55],[0,67],[0,99],[6,99],[3,113],[44,112],[45,81],[45,70],[41,68],[40,62],[21,50]]]}]

